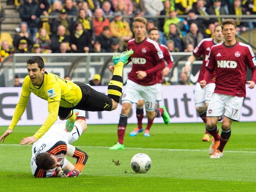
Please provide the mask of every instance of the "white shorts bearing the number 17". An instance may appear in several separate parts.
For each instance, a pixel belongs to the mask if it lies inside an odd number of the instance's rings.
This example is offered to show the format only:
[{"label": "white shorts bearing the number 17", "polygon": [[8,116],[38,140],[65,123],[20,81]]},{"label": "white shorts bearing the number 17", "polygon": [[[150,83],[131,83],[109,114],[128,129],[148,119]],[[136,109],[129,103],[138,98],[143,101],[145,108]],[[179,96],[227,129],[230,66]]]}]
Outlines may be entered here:
[{"label": "white shorts bearing the number 17", "polygon": [[244,97],[213,93],[207,109],[207,117],[226,116],[239,121]]}]

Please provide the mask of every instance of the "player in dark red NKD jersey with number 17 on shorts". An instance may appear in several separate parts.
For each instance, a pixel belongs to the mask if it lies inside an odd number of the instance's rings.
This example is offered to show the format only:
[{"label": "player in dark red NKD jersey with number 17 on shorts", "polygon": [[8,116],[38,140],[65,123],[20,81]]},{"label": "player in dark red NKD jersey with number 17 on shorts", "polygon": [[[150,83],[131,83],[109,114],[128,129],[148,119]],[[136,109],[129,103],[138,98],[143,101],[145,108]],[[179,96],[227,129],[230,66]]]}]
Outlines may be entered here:
[{"label": "player in dark red NKD jersey with number 17 on shorts", "polygon": [[[224,43],[213,45],[206,62],[204,80],[200,85],[204,88],[216,71],[216,87],[207,109],[206,128],[214,137],[209,148],[211,158],[221,158],[231,135],[231,124],[239,121],[243,100],[245,97],[245,84],[253,89],[256,82],[256,59],[251,46],[236,41],[236,22],[226,19],[222,23]],[[246,67],[252,70],[252,80],[246,81]],[[219,116],[223,115],[221,134],[217,127]]]}]

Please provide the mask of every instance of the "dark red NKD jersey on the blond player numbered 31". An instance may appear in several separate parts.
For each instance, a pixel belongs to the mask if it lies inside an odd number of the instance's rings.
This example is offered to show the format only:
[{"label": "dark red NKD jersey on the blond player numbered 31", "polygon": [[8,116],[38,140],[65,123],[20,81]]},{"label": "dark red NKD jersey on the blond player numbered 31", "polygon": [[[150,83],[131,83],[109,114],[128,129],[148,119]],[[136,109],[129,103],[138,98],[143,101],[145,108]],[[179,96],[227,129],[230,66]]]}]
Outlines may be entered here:
[{"label": "dark red NKD jersey on the blond player numbered 31", "polygon": [[[128,78],[140,85],[148,86],[156,84],[156,72],[147,73],[147,76],[143,79],[139,79],[136,72],[147,71],[161,62],[164,62],[163,52],[157,42],[145,38],[144,41],[136,43],[135,39],[131,39],[128,41],[127,49],[133,50],[133,54],[129,58],[129,61],[132,61],[132,70],[129,73]],[[161,69],[163,68],[161,67]]]}]

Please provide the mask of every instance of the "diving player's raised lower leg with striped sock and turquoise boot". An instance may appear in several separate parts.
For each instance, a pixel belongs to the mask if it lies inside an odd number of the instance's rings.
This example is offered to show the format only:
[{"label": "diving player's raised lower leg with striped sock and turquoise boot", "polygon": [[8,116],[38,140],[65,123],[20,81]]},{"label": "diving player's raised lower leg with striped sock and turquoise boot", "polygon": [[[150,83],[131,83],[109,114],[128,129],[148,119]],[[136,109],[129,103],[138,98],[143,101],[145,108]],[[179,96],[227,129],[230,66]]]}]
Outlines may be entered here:
[{"label": "diving player's raised lower leg with striped sock and turquoise boot", "polygon": [[115,64],[112,79],[108,84],[108,96],[117,103],[122,95],[123,89],[123,67],[128,62],[129,57],[133,54],[132,50],[123,52],[113,56],[112,60]]}]

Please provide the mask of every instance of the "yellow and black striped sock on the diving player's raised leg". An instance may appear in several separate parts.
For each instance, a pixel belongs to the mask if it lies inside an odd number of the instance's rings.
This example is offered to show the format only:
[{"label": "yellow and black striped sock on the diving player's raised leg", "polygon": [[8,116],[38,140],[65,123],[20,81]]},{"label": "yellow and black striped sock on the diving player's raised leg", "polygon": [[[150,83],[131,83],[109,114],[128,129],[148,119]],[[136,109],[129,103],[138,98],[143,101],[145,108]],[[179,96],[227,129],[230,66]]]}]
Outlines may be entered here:
[{"label": "yellow and black striped sock on the diving player's raised leg", "polygon": [[115,65],[112,79],[108,83],[108,96],[119,103],[119,99],[122,95],[123,89],[123,68],[124,63],[122,61]]}]

